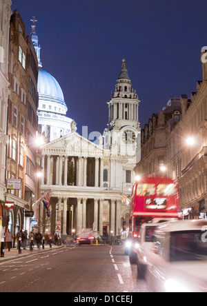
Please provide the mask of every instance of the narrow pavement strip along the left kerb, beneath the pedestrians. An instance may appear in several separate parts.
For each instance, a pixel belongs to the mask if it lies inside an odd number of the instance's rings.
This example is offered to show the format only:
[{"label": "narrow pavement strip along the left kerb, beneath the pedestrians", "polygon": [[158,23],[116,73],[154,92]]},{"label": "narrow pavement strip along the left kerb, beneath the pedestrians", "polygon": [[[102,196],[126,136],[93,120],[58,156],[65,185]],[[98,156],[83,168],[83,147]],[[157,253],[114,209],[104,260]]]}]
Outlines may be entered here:
[{"label": "narrow pavement strip along the left kerb, beneath the pedestrians", "polygon": [[11,261],[14,259],[30,256],[33,254],[39,254],[44,252],[52,251],[52,249],[60,249],[62,247],[65,247],[65,245],[52,245],[52,248],[50,248],[50,245],[45,245],[45,249],[42,249],[42,246],[40,249],[37,248],[37,246],[34,246],[34,249],[32,252],[30,252],[30,249],[27,247],[26,249],[21,249],[21,254],[19,254],[19,249],[10,249],[10,252],[8,252],[8,249],[4,250],[4,257],[0,257],[0,264],[5,261]]}]

